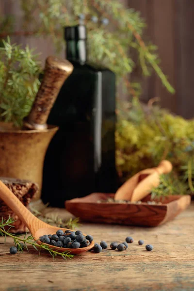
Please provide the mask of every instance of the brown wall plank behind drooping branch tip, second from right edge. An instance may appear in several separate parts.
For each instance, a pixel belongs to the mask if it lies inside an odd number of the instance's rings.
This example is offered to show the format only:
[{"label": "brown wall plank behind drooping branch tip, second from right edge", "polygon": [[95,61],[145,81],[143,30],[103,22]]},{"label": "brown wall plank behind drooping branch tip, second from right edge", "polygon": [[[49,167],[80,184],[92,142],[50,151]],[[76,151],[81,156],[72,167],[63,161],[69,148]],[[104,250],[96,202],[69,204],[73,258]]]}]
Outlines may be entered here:
[{"label": "brown wall plank behind drooping branch tip, second from right edge", "polygon": [[[168,76],[169,82],[175,87],[175,33],[174,33],[174,0],[153,1],[154,15],[154,39],[158,46],[161,58],[161,67]],[[176,112],[176,95],[171,95],[162,85],[161,80],[156,78],[155,95],[161,98],[162,107]]]}]

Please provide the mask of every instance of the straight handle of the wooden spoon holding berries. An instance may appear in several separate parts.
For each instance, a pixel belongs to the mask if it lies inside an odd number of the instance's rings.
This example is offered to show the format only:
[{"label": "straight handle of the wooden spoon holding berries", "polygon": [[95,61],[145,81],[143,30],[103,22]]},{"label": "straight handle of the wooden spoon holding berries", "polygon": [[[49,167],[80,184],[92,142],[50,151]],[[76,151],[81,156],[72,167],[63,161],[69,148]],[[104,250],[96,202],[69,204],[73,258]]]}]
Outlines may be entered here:
[{"label": "straight handle of the wooden spoon holding berries", "polygon": [[9,188],[0,181],[0,198],[13,210],[21,221],[31,230],[32,224],[39,221],[9,190]]}]

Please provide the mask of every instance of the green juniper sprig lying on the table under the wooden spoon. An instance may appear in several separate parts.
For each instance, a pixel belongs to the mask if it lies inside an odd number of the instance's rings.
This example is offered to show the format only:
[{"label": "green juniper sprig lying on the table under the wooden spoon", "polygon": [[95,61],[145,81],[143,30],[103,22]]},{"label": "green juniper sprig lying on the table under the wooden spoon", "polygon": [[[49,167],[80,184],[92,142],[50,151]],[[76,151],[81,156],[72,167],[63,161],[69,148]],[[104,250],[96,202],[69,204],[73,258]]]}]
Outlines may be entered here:
[{"label": "green juniper sprig lying on the table under the wooden spoon", "polygon": [[[19,249],[19,251],[20,252],[23,252],[23,248],[22,248],[22,246],[21,246],[21,242],[24,244],[24,246],[25,246],[25,249],[27,250],[27,251],[29,251],[28,250],[28,244],[30,244],[30,245],[32,245],[33,246],[33,248],[35,249],[35,250],[37,250],[38,252],[39,252],[39,255],[40,255],[40,251],[41,251],[41,249],[43,249],[43,250],[46,250],[46,251],[48,251],[49,252],[49,254],[53,257],[53,259],[58,255],[58,256],[61,256],[62,258],[64,258],[64,259],[72,259],[74,256],[73,255],[71,255],[71,254],[69,254],[69,252],[62,252],[62,253],[59,253],[59,252],[57,252],[57,251],[54,251],[53,249],[52,249],[52,247],[49,247],[48,245],[46,245],[46,244],[44,244],[44,243],[41,243],[41,244],[38,244],[38,243],[36,243],[36,241],[34,241],[34,239],[33,239],[33,237],[32,237],[32,235],[29,235],[29,236],[27,236],[27,233],[24,235],[24,237],[23,238],[21,238],[21,236],[23,236],[23,235],[14,235],[14,234],[11,234],[11,233],[9,233],[9,229],[11,228],[11,227],[14,227],[14,226],[12,226],[12,224],[15,222],[15,220],[12,218],[12,217],[9,217],[7,220],[5,219],[3,219],[3,217],[2,217],[2,219],[1,219],[1,222],[0,222],[0,235],[1,236],[3,236],[4,238],[5,238],[5,242],[6,242],[6,237],[7,236],[10,236],[10,237],[12,237],[13,238],[13,240],[14,240],[14,244],[15,244],[15,246],[17,246],[18,247],[18,249]],[[10,228],[8,229],[8,230],[5,230],[5,227],[7,227],[7,226],[10,226]]]}]

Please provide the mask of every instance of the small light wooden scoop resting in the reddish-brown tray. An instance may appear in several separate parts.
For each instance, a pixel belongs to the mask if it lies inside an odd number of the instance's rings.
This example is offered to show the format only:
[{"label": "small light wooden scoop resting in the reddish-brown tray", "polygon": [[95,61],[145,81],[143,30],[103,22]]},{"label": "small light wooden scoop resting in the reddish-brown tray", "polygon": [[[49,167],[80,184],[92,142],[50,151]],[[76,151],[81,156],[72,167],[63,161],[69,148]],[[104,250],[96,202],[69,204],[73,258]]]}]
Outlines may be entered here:
[{"label": "small light wooden scoop resting in the reddish-brown tray", "polygon": [[160,175],[172,171],[172,164],[163,160],[158,167],[140,171],[127,180],[116,192],[115,200],[139,201],[160,184]]}]

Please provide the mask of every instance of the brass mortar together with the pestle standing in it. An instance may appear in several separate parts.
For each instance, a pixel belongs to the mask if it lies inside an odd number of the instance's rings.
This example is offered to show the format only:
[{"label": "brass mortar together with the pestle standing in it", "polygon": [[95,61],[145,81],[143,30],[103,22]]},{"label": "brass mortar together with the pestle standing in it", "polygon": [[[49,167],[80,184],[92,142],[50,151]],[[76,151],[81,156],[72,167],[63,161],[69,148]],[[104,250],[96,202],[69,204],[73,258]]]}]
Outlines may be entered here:
[{"label": "brass mortar together with the pestle standing in it", "polygon": [[39,191],[33,200],[41,196],[45,154],[58,130],[57,126],[47,125],[47,119],[64,81],[72,71],[73,65],[67,60],[49,56],[43,81],[32,110],[24,119],[23,129],[14,128],[11,123],[0,123],[0,176],[37,183]]}]

